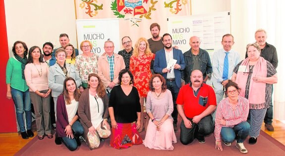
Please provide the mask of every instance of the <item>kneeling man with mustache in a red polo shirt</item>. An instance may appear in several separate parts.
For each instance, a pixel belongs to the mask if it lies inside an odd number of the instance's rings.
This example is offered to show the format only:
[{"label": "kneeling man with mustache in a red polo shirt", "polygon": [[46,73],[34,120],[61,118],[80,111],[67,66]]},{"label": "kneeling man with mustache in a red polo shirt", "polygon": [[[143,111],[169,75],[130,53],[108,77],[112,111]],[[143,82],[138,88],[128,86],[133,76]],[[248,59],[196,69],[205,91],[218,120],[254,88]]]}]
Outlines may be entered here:
[{"label": "kneeling man with mustache in a red polo shirt", "polygon": [[211,113],[216,109],[216,96],[213,88],[203,83],[200,70],[193,70],[191,83],[181,87],[176,104],[182,118],[180,142],[190,144],[195,138],[205,143],[205,136],[214,132]]}]

